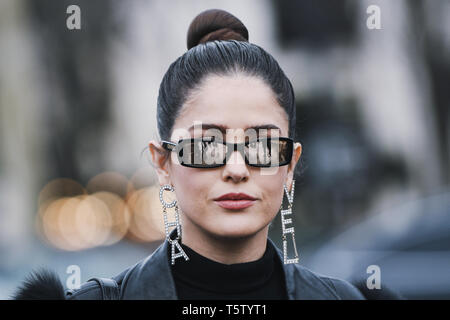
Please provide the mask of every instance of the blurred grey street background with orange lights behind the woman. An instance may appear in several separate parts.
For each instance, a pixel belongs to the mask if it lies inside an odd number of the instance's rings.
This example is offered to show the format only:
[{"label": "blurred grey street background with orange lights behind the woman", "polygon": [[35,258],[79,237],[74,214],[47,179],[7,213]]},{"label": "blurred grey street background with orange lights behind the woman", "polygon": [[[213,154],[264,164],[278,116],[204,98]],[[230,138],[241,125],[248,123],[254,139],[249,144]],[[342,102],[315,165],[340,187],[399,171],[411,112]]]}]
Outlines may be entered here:
[{"label": "blurred grey street background with orange lights behind the woman", "polygon": [[[162,242],[142,151],[160,81],[210,8],[294,86],[301,262],[363,287],[376,265],[382,289],[450,298],[450,1],[0,0],[0,299],[37,267],[111,277]],[[281,246],[280,231],[277,216]]]}]

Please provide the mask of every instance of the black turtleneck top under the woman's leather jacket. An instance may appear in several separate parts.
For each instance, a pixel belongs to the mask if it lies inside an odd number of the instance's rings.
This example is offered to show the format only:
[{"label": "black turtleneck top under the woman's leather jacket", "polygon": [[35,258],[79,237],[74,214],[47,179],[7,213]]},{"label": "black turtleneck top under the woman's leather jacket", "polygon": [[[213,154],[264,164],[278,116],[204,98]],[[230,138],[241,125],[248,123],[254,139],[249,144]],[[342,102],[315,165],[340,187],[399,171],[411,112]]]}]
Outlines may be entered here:
[{"label": "black turtleneck top under the woman's leather jacket", "polygon": [[283,266],[269,241],[260,259],[230,265],[181,246],[189,260],[172,266],[178,299],[287,299]]}]

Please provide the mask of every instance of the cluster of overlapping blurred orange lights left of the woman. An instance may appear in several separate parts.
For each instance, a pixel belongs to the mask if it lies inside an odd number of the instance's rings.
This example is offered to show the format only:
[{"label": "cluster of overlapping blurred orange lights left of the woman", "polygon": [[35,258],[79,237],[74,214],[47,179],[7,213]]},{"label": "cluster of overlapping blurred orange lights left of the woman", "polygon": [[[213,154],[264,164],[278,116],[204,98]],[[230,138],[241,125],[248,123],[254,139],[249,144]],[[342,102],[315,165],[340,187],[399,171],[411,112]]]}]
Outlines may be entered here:
[{"label": "cluster of overlapping blurred orange lights left of the woman", "polygon": [[102,172],[85,188],[70,179],[50,181],[39,193],[38,234],[49,245],[67,251],[109,246],[124,238],[163,239],[159,188],[149,186],[155,179],[145,172],[136,172],[130,180],[117,172]]}]

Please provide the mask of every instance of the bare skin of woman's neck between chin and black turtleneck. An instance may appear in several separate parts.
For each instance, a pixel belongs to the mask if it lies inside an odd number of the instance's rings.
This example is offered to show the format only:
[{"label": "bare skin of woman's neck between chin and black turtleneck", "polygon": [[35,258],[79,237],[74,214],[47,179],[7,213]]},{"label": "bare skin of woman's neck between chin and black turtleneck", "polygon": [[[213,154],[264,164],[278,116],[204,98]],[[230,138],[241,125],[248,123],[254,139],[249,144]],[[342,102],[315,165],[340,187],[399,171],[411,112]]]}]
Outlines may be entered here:
[{"label": "bare skin of woman's neck between chin and black turtleneck", "polygon": [[249,237],[220,237],[185,221],[182,243],[202,256],[223,264],[256,261],[266,251],[268,226]]}]

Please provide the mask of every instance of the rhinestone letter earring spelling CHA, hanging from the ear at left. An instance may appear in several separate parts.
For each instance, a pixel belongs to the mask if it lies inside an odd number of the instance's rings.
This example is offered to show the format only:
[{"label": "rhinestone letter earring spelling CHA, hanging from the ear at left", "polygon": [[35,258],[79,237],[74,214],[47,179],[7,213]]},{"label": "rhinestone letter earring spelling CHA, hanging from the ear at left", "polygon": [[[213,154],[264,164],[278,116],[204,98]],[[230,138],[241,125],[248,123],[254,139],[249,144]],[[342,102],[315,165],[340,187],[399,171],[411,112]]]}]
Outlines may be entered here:
[{"label": "rhinestone letter earring spelling CHA, hanging from the ear at left", "polygon": [[[189,260],[189,257],[186,255],[186,253],[184,252],[183,248],[181,247],[181,245],[179,243],[179,241],[181,240],[181,225],[180,225],[180,218],[179,218],[179,214],[178,214],[177,200],[173,200],[170,203],[165,202],[163,199],[164,190],[173,192],[174,189],[170,184],[161,186],[161,188],[159,189],[159,201],[161,201],[161,203],[163,205],[164,227],[165,227],[165,232],[166,232],[166,240],[172,245],[171,261],[172,261],[172,265],[174,265],[176,258],[183,257],[187,261],[187,260]],[[167,208],[172,208],[172,207],[175,207],[175,222],[169,222],[167,219]],[[175,237],[175,239],[170,238],[170,232],[169,232],[170,227],[176,227],[176,229],[177,229],[177,231],[176,231],[177,236]],[[175,249],[177,249],[178,252],[175,252]]]}]

